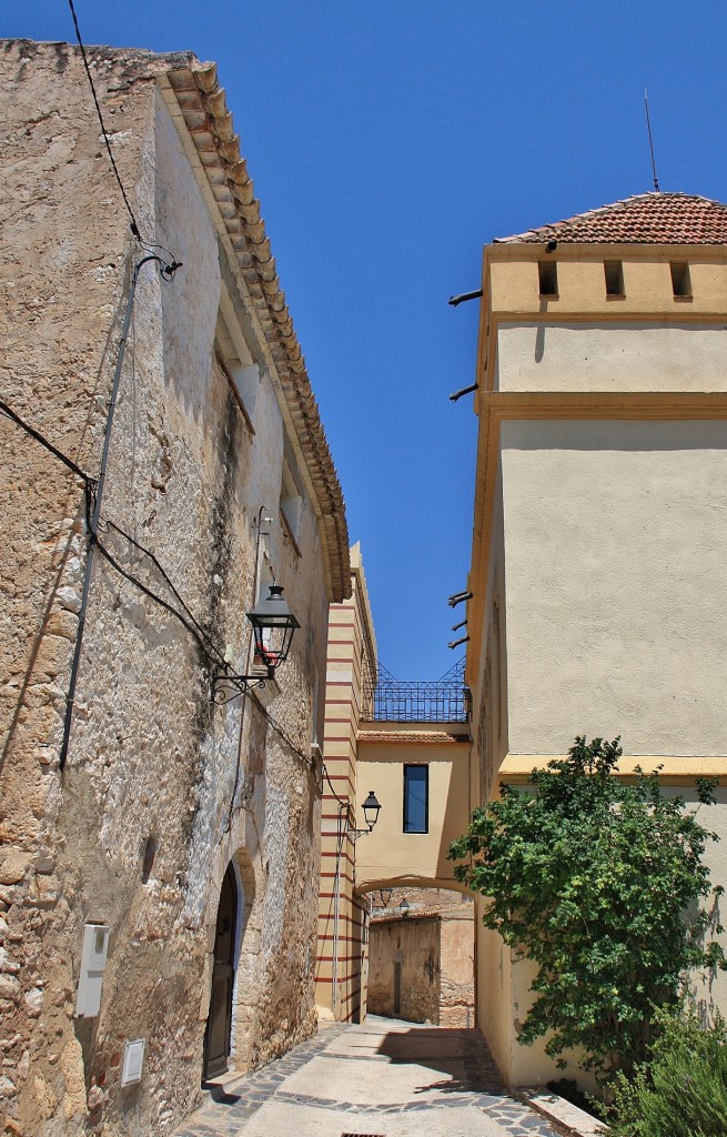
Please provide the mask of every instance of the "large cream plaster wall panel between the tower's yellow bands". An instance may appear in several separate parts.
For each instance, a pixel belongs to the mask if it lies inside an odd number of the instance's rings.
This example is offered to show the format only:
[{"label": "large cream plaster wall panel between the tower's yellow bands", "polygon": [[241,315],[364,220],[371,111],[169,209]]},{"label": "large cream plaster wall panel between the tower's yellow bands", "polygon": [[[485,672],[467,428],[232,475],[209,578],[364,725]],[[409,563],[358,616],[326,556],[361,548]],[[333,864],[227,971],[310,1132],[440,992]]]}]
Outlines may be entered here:
[{"label": "large cream plaster wall panel between the tower's yellow bands", "polygon": [[727,426],[509,422],[502,468],[510,752],[727,753]]}]

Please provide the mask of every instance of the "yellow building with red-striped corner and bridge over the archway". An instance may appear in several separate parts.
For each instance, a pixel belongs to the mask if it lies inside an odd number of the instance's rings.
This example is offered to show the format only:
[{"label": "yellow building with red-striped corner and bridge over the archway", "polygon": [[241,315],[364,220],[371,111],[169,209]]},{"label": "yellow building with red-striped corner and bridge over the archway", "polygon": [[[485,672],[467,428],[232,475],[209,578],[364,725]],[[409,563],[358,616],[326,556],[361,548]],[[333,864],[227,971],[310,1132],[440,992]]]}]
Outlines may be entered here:
[{"label": "yellow building with red-striped corner and bridge over the archway", "polygon": [[[316,1003],[320,1018],[356,1022],[366,1015],[369,894],[461,890],[446,850],[471,805],[461,674],[400,683],[379,666],[358,545],[351,597],[329,613],[323,749]],[[369,832],[371,791],[381,814]]]}]

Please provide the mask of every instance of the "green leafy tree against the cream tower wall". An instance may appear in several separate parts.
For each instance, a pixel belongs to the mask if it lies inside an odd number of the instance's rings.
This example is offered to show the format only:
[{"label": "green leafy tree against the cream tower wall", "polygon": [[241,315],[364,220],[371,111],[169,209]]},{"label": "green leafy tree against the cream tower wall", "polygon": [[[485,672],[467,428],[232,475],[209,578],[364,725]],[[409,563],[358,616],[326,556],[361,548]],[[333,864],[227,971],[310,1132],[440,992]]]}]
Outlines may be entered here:
[{"label": "green leafy tree against the cream tower wall", "polygon": [[[619,739],[576,738],[565,760],[533,771],[530,788],[503,786],[450,846],[454,875],[487,897],[483,921],[537,965],[524,1044],[548,1036],[560,1055],[579,1047],[585,1069],[608,1080],[642,1062],[654,1007],[677,1006],[694,968],[724,964],[708,929],[715,912],[702,862],[703,829],[658,774],[615,777]],[[700,779],[697,797],[715,800]]]}]

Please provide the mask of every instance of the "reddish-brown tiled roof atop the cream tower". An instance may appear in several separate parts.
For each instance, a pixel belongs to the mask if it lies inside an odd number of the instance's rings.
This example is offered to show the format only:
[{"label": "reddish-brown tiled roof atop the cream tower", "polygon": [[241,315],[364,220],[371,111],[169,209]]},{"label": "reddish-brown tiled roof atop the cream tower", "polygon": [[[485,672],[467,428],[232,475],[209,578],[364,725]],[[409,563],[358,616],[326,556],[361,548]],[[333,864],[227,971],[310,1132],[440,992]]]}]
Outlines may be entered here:
[{"label": "reddish-brown tiled roof atop the cream tower", "polygon": [[727,244],[727,206],[690,193],[640,193],[495,244]]}]

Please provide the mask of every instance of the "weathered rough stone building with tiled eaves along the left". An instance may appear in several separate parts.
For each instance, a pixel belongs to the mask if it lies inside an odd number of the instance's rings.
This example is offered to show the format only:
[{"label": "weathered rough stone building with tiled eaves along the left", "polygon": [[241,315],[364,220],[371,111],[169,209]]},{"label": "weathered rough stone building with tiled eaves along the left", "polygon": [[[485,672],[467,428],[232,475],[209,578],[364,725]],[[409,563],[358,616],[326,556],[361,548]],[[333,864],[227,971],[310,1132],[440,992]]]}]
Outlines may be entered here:
[{"label": "weathered rough stone building with tiled eaves along the left", "polygon": [[6,1132],[161,1135],[316,1029],[345,515],[215,66],[89,50],[136,238],[78,51],[0,52]]}]

